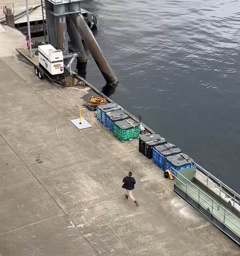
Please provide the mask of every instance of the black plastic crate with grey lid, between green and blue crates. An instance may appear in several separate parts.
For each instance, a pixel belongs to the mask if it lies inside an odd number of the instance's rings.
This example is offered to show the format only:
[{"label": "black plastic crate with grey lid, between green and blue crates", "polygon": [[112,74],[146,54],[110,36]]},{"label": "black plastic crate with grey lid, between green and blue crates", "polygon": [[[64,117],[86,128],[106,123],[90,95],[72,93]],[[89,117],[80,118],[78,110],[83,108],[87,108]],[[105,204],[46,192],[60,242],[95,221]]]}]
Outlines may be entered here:
[{"label": "black plastic crate with grey lid, between green and blue crates", "polygon": [[167,143],[167,140],[157,133],[144,134],[139,138],[139,152],[151,159],[153,146],[162,145],[165,143]]}]

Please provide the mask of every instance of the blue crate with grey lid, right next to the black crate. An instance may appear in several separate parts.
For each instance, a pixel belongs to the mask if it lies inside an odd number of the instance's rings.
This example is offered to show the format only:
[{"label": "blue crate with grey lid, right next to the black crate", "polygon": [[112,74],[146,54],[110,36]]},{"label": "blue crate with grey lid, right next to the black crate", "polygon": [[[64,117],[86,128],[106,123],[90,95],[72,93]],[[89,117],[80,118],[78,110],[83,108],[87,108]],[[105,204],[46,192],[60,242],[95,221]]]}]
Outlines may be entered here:
[{"label": "blue crate with grey lid, right next to the black crate", "polygon": [[182,150],[172,143],[166,143],[164,145],[154,146],[152,153],[152,161],[159,166],[162,170],[167,156],[172,156],[181,153]]}]

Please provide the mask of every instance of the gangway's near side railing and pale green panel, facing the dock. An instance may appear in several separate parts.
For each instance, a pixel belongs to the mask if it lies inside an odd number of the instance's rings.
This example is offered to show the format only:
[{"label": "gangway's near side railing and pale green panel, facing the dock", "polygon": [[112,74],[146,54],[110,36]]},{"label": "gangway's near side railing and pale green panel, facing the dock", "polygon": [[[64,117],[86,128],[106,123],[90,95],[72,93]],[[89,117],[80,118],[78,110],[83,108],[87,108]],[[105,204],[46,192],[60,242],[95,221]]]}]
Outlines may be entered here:
[{"label": "gangway's near side railing and pale green panel, facing the dock", "polygon": [[[173,169],[174,170],[174,169]],[[172,171],[172,170],[171,170]],[[205,193],[202,189],[200,189],[198,186],[196,186],[193,182],[188,180],[185,176],[183,176],[179,171],[176,171],[176,175],[174,176],[174,184],[182,191],[183,188],[181,188],[177,183],[182,183],[185,187],[185,193],[191,197],[195,202],[197,202],[199,205],[201,205],[205,210],[209,211],[216,219],[218,219],[221,223],[223,223],[226,227],[228,227],[235,235],[240,237],[240,219],[235,216],[232,212],[227,210],[225,207],[220,205],[216,200],[214,200],[211,196],[209,196],[207,193]],[[184,181],[185,182],[184,182]],[[189,186],[191,185],[192,188]],[[194,189],[193,189],[194,188]],[[193,197],[189,191],[192,191],[196,197]],[[196,192],[197,191],[197,192]],[[203,195],[205,198],[203,198]],[[200,199],[203,200],[208,206],[209,209],[206,209],[206,207],[200,202]],[[209,201],[208,201],[209,200]],[[214,210],[216,212],[214,212]],[[218,214],[219,213],[219,214]],[[220,218],[219,216],[222,216]],[[232,223],[239,232],[236,232],[228,223],[227,221]],[[235,220],[235,222],[233,221]]]}]

